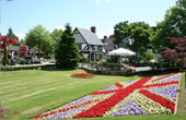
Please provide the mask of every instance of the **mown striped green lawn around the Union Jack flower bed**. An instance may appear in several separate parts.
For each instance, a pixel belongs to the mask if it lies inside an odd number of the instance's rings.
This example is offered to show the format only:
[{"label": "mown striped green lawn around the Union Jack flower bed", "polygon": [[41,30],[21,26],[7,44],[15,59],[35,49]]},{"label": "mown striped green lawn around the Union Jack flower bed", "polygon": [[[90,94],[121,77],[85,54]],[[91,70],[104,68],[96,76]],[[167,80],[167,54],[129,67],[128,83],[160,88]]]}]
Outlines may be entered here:
[{"label": "mown striped green lawn around the Union Jack flower bed", "polygon": [[[25,120],[56,108],[116,82],[133,80],[140,76],[125,77],[95,75],[93,79],[73,79],[74,71],[13,71],[0,73],[0,101],[3,107],[18,110],[19,115],[8,115],[12,120]],[[182,94],[182,93],[181,93]],[[148,115],[116,118],[96,118],[95,120],[183,120],[186,115]],[[83,119],[81,119],[83,120]],[[86,120],[86,119],[84,119]]]}]

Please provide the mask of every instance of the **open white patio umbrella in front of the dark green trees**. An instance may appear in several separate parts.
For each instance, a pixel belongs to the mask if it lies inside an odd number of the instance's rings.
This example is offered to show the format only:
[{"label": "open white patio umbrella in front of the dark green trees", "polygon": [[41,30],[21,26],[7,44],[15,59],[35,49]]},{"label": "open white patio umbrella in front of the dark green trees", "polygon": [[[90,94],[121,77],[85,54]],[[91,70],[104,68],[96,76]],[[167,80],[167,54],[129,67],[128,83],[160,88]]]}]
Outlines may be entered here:
[{"label": "open white patio umbrella in front of the dark green trees", "polygon": [[136,52],[130,51],[125,48],[118,48],[118,49],[115,49],[115,50],[108,52],[108,56],[120,56],[120,64],[121,64],[121,57],[135,56],[135,55],[136,55]]}]

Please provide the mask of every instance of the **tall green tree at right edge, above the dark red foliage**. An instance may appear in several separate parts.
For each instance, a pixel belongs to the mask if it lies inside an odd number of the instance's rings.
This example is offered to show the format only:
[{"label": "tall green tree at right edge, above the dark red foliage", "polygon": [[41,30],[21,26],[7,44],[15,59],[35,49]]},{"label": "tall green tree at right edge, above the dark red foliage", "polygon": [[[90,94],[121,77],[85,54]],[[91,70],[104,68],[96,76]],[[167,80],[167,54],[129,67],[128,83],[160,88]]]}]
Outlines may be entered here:
[{"label": "tall green tree at right edge, above the dark red foliage", "polygon": [[156,25],[156,33],[151,37],[154,49],[162,51],[163,47],[174,48],[167,37],[184,37],[186,33],[186,0],[177,0],[176,5],[166,11],[164,21]]}]

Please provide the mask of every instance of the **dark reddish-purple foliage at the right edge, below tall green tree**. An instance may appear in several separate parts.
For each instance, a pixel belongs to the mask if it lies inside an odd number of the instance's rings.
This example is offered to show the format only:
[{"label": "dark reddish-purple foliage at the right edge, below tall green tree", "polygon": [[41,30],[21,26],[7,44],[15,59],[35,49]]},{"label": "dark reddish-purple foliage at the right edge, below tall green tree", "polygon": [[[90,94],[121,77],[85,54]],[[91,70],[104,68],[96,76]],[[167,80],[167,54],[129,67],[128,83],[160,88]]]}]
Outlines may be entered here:
[{"label": "dark reddish-purple foliage at the right edge, below tall green tree", "polygon": [[161,55],[168,61],[178,62],[182,70],[186,68],[186,37],[175,38],[171,37],[171,43],[175,44],[175,48],[171,49],[165,47]]}]

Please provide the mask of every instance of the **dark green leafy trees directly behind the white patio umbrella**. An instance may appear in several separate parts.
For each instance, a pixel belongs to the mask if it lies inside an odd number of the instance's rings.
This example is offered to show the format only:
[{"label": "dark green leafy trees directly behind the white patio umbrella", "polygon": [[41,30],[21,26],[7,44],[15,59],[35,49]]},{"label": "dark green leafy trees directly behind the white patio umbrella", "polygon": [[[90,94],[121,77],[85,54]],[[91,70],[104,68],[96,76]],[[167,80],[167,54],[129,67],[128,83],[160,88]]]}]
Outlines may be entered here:
[{"label": "dark green leafy trees directly behind the white patio umbrella", "polygon": [[150,35],[152,28],[144,22],[128,23],[128,21],[120,22],[114,27],[114,43],[121,44],[125,38],[132,40],[129,48],[136,52],[143,53],[150,46]]}]

